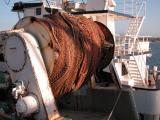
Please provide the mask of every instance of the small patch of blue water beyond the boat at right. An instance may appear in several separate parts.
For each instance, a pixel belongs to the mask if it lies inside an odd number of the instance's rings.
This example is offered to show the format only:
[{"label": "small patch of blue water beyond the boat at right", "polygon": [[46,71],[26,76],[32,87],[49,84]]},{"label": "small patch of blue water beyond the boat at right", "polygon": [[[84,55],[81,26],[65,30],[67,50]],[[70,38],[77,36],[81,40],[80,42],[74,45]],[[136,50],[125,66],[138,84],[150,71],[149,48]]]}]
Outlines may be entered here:
[{"label": "small patch of blue water beyond the boat at right", "polygon": [[160,41],[151,42],[150,49],[152,52],[152,57],[147,58],[147,65],[158,66],[160,68]]}]

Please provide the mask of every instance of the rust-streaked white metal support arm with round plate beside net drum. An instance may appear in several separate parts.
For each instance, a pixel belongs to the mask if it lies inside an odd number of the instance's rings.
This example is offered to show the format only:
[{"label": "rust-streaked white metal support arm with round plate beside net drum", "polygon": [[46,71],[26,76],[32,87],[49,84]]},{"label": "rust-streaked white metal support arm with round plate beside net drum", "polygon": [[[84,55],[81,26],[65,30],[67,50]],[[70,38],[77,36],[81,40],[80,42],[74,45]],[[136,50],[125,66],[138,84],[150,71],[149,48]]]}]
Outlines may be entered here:
[{"label": "rust-streaked white metal support arm with round plate beside net drum", "polygon": [[[13,36],[18,36],[19,38],[16,40],[13,39],[16,44],[12,43],[11,39]],[[21,43],[24,45],[19,46]],[[20,54],[20,57],[17,57],[20,51],[23,53]],[[29,33],[13,31],[8,34],[8,39],[6,39],[4,54],[12,83],[14,84],[16,81],[23,81],[24,86],[26,87],[26,95],[33,94],[38,98],[39,109],[34,115],[34,118],[37,120],[52,120],[60,117],[36,39]],[[9,55],[11,55],[12,58],[8,57]],[[20,63],[15,62],[19,60],[21,61]],[[24,63],[23,67],[21,66],[21,63]]]}]

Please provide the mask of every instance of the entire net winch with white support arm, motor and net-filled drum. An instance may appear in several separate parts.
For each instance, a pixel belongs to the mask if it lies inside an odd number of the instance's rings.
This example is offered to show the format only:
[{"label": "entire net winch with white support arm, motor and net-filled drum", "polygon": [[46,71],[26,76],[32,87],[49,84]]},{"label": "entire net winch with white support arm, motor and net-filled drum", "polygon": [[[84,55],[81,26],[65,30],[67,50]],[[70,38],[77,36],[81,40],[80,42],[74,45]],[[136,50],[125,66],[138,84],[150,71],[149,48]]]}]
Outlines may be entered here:
[{"label": "entire net winch with white support arm, motor and net-filled drum", "polygon": [[0,86],[12,97],[12,115],[24,119],[61,119],[55,98],[81,88],[114,53],[106,26],[65,12],[25,17],[1,39],[10,80]]}]

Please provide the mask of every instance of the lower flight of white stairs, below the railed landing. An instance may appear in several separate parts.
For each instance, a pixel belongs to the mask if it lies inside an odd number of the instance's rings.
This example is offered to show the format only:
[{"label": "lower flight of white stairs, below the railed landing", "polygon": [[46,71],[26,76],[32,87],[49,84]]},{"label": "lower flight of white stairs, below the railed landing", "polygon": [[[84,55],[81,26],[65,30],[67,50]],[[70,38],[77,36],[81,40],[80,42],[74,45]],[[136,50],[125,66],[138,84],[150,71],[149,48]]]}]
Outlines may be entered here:
[{"label": "lower flight of white stairs, below the railed landing", "polygon": [[142,79],[136,60],[127,61],[127,69],[133,82],[132,84],[135,87],[145,87],[145,81]]}]

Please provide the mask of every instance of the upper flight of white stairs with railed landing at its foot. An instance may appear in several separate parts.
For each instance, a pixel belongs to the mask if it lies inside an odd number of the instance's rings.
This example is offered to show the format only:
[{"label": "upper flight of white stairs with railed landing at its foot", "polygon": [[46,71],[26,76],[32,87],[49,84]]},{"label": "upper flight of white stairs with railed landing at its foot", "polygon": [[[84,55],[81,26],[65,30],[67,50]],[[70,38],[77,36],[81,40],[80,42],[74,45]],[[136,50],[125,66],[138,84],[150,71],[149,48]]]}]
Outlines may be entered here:
[{"label": "upper flight of white stairs with railed landing at its foot", "polygon": [[116,43],[120,43],[115,48],[115,54],[125,56],[136,51],[137,37],[144,21],[144,16],[135,17],[130,20],[128,30],[125,36],[118,37]]}]

